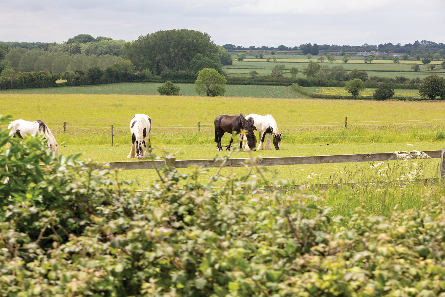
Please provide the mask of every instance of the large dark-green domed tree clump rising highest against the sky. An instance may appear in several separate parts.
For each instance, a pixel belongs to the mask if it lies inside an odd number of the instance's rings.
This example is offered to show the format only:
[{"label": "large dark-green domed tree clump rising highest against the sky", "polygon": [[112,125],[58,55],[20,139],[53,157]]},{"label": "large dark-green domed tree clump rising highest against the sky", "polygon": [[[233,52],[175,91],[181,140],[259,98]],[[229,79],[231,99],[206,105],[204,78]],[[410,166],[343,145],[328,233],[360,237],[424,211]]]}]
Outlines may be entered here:
[{"label": "large dark-green domed tree clump rising highest against the sky", "polygon": [[218,48],[207,33],[199,31],[161,30],[126,43],[122,50],[122,56],[129,59],[136,69],[149,69],[156,74],[164,69],[187,70],[198,53],[214,61],[216,70],[222,71]]}]

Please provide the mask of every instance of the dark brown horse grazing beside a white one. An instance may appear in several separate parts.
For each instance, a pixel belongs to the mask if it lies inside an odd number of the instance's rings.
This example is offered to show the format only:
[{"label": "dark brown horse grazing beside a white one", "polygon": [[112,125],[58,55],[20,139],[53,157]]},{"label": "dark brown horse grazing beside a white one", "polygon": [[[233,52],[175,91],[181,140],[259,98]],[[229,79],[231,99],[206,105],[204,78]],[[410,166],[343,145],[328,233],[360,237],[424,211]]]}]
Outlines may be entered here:
[{"label": "dark brown horse grazing beside a white one", "polygon": [[[221,114],[218,115],[215,118],[214,121],[215,124],[215,142],[218,144],[216,150],[222,151],[223,147],[221,146],[221,138],[223,137],[224,133],[227,132],[229,134],[232,134],[233,131],[238,132],[241,134],[242,130],[246,130],[247,133],[247,146],[249,146],[249,149],[251,151],[255,151],[255,145],[256,145],[256,137],[255,133],[252,130],[252,127],[249,125],[249,123],[246,121],[244,116],[242,114],[238,115],[227,115],[227,114]],[[230,151],[230,146],[232,145],[233,138],[230,139],[230,143],[227,146],[227,151]],[[243,147],[243,142],[239,143],[239,147]]]}]

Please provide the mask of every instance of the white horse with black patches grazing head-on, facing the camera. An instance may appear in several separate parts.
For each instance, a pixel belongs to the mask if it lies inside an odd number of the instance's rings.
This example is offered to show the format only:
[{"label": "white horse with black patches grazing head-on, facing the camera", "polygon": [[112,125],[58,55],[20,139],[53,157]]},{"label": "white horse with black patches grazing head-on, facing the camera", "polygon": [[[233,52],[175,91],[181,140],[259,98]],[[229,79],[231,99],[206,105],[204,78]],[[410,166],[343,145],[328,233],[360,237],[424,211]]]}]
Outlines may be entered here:
[{"label": "white horse with black patches grazing head-on, facing the camera", "polygon": [[142,159],[147,148],[145,139],[148,140],[148,151],[151,153],[150,143],[151,118],[146,114],[135,114],[130,121],[131,151],[127,158]]}]

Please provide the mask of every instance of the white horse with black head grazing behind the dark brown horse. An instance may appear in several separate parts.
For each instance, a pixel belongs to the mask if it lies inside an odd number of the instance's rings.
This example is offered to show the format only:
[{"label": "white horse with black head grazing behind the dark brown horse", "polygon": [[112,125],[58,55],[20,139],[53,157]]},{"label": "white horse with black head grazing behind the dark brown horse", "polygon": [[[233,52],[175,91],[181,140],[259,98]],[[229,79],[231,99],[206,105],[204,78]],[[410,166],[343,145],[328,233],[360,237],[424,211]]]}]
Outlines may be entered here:
[{"label": "white horse with black head grazing behind the dark brown horse", "polygon": [[[279,142],[281,141],[281,134],[279,133],[277,122],[270,115],[248,114],[246,116],[247,122],[251,125],[253,130],[259,131],[259,145],[257,150],[271,150],[271,135],[273,136],[273,144],[276,150],[280,149]],[[263,134],[263,137],[261,137]],[[267,135],[266,143],[264,144],[264,137]],[[246,142],[243,142],[244,144]],[[243,148],[244,148],[243,144]],[[263,147],[264,146],[264,147]]]}]

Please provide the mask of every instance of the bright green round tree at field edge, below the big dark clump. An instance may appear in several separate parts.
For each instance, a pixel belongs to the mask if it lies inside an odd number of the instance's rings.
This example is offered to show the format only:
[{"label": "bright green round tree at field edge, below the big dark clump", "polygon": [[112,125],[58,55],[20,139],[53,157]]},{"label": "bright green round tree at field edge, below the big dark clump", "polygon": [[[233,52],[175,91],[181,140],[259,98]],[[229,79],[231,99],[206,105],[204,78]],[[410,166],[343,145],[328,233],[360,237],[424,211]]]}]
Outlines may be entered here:
[{"label": "bright green round tree at field edge, below the big dark clump", "polygon": [[203,68],[198,72],[194,83],[195,91],[199,95],[210,97],[223,96],[226,92],[226,77],[213,68]]}]

